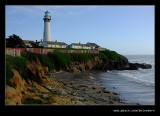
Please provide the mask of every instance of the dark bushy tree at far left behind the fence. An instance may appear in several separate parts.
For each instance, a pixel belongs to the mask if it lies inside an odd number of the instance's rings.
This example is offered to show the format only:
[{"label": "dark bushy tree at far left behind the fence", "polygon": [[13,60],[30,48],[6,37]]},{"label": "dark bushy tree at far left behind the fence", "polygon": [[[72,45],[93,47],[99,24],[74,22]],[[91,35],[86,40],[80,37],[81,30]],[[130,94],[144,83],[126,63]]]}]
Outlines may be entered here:
[{"label": "dark bushy tree at far left behind the fence", "polygon": [[13,34],[8,37],[9,38],[6,38],[6,47],[12,47],[12,48],[26,47],[23,40],[19,36]]}]

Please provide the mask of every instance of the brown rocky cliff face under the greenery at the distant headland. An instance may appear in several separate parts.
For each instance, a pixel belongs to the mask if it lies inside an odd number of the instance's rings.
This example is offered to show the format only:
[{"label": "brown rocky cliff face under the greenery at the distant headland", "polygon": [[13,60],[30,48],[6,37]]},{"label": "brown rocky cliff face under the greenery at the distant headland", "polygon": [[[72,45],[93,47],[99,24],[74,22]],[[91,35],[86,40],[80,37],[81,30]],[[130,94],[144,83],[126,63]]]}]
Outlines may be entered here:
[{"label": "brown rocky cliff face under the greenery at the distant headland", "polygon": [[98,56],[93,60],[88,60],[86,63],[72,62],[67,71],[72,73],[80,73],[81,71],[96,69],[96,70],[122,70],[128,65],[128,59],[124,58],[120,61],[106,60],[102,61]]}]

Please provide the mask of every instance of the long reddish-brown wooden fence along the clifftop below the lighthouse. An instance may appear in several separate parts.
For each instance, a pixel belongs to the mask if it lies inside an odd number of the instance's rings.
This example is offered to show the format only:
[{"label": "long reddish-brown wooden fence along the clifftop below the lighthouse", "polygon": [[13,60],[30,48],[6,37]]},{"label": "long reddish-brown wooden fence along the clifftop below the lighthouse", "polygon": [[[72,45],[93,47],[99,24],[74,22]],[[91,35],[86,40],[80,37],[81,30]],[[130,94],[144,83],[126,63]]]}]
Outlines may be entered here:
[{"label": "long reddish-brown wooden fence along the clifftop below the lighthouse", "polygon": [[68,49],[45,49],[45,48],[6,48],[6,54],[12,56],[20,56],[20,52],[29,51],[38,54],[47,54],[48,52],[63,52],[63,53],[99,53],[98,50],[68,50]]}]

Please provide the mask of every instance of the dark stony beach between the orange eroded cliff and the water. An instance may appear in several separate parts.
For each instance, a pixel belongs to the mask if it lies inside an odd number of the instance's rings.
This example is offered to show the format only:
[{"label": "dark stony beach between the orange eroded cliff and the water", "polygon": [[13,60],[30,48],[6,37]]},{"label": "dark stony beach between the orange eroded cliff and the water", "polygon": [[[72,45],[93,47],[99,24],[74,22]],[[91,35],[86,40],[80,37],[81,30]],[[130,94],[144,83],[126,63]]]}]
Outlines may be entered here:
[{"label": "dark stony beach between the orange eroded cliff and the water", "polygon": [[[61,84],[60,87],[45,86],[48,91],[59,95],[59,99],[51,103],[53,105],[131,105],[125,103],[117,93],[93,81],[88,73],[60,72],[59,76],[56,73],[47,75]],[[50,99],[49,95],[46,98]]]}]

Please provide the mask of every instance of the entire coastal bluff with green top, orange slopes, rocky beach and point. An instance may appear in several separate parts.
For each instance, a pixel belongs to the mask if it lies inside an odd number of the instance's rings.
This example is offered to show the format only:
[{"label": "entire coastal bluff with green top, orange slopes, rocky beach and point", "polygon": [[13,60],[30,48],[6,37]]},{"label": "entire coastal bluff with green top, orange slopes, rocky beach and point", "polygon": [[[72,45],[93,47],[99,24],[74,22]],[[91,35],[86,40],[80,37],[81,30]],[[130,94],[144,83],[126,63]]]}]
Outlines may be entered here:
[{"label": "entire coastal bluff with green top, orange slopes, rocky beach and point", "polygon": [[[47,55],[30,52],[6,56],[6,105],[122,105],[119,95],[84,79],[54,78],[50,73],[80,74],[87,70],[128,70],[128,59],[112,51],[100,54]],[[133,64],[134,65],[134,64]],[[133,66],[132,65],[132,66]],[[144,68],[143,65],[136,68]],[[145,64],[146,65],[146,64]],[[137,69],[138,69],[137,68]],[[147,64],[145,68],[150,68]]]}]

